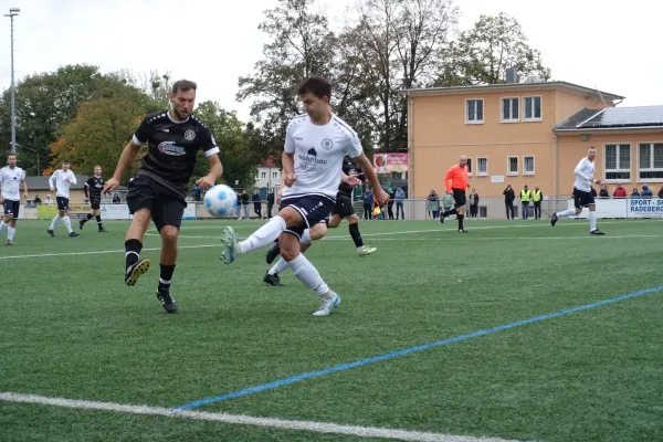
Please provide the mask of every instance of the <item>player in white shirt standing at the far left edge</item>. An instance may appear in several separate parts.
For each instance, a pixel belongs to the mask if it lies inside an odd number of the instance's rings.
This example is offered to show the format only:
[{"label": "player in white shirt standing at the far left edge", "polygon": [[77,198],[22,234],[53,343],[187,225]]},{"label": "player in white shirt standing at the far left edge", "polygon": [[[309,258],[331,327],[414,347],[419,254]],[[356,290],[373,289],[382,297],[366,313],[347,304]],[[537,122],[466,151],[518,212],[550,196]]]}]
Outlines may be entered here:
[{"label": "player in white shirt standing at the far left edge", "polygon": [[7,167],[0,169],[0,203],[4,209],[4,217],[0,222],[0,233],[7,228],[7,245],[14,245],[13,235],[17,231],[17,219],[21,208],[20,187],[23,187],[23,198],[28,198],[28,183],[25,171],[17,167],[17,155],[9,154]]}]

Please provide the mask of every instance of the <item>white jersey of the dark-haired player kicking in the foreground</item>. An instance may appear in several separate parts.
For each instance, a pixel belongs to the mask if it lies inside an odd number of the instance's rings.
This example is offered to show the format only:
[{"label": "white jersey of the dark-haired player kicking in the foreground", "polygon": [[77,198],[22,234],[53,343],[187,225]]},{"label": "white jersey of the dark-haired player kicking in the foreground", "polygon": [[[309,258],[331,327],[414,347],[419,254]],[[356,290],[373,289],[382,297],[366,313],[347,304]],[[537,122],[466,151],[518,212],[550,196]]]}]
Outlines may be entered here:
[{"label": "white jersey of the dark-haired player kicking in the foreground", "polygon": [[343,159],[347,155],[361,155],[359,137],[344,120],[333,115],[325,126],[311,122],[308,115],[293,118],[285,130],[286,154],[295,154],[295,176],[292,187],[283,197],[295,194],[324,194],[336,199]]}]

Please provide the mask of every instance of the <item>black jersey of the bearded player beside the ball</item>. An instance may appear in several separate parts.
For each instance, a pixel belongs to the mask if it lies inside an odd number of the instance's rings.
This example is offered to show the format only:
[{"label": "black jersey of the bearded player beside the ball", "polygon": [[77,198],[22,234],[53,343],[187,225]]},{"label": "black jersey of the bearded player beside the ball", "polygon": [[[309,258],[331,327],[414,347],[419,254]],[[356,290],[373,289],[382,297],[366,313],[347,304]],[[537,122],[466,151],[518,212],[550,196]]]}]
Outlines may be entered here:
[{"label": "black jersey of the bearded player beside the ball", "polygon": [[175,122],[168,112],[149,114],[134,134],[138,146],[147,143],[138,175],[145,172],[165,186],[186,191],[198,150],[206,156],[219,152],[210,128],[194,116]]}]

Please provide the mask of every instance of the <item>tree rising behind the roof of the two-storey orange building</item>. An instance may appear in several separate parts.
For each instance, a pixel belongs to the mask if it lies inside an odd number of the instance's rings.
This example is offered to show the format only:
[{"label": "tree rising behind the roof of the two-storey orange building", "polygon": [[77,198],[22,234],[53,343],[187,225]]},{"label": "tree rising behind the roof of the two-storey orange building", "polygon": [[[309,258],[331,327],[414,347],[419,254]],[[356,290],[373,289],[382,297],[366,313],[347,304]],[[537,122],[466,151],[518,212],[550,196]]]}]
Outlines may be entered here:
[{"label": "tree rising behind the roof of the two-storey orange building", "polygon": [[474,28],[462,32],[449,49],[435,86],[504,83],[506,70],[515,67],[520,77],[537,75],[550,80],[541,54],[529,46],[520,24],[512,17],[481,15]]}]

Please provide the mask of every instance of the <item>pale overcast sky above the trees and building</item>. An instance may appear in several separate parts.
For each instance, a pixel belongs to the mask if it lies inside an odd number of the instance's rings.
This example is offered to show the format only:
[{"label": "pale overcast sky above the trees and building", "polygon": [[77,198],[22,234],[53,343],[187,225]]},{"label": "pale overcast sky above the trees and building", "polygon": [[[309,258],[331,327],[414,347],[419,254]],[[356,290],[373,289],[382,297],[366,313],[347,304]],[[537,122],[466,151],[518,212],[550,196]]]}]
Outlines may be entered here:
[{"label": "pale overcast sky above the trees and building", "polygon": [[[318,0],[339,23],[355,0]],[[86,63],[102,72],[136,75],[169,71],[198,83],[198,102],[213,99],[241,119],[250,102],[238,103],[238,78],[250,74],[269,35],[257,25],[276,0],[0,0],[14,19],[14,72],[54,71]],[[621,106],[663,105],[661,41],[663,2],[655,0],[456,0],[459,29],[481,14],[506,12],[543,53],[552,80],[625,96]],[[10,20],[0,21],[0,87],[9,88]]]}]

